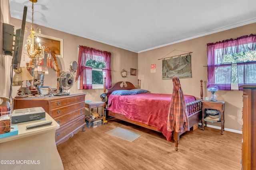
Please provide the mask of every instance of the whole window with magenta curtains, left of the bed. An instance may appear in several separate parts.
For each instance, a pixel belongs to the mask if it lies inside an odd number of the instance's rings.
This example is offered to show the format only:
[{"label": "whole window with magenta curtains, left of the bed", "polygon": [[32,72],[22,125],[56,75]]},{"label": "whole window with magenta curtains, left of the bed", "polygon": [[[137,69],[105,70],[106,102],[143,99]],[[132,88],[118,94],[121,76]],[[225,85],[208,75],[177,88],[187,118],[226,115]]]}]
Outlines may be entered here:
[{"label": "whole window with magenta curtains, left of the bed", "polygon": [[103,88],[105,77],[106,88],[110,88],[112,84],[110,61],[110,52],[80,45],[76,74],[79,89]]}]

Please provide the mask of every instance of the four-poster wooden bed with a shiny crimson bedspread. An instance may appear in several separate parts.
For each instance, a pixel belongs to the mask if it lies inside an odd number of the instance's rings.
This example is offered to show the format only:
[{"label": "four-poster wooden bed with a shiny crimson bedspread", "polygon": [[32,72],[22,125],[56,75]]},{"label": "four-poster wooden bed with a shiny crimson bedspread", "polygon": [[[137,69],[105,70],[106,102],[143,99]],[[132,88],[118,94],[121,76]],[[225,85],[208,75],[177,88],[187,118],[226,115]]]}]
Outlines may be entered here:
[{"label": "four-poster wooden bed with a shiny crimson bedspread", "polygon": [[[174,149],[178,151],[180,135],[184,133],[167,130],[167,117],[172,94],[141,93],[135,95],[111,95],[112,92],[122,90],[140,89],[138,80],[137,88],[131,82],[117,82],[111,88],[104,88],[107,96],[106,115],[161,132],[168,141],[172,136],[174,139]],[[104,86],[105,87],[105,86]],[[184,95],[187,107],[187,116],[190,128],[199,122],[202,111],[202,80],[200,80],[200,99],[194,96]],[[175,129],[175,128],[174,128]]]}]

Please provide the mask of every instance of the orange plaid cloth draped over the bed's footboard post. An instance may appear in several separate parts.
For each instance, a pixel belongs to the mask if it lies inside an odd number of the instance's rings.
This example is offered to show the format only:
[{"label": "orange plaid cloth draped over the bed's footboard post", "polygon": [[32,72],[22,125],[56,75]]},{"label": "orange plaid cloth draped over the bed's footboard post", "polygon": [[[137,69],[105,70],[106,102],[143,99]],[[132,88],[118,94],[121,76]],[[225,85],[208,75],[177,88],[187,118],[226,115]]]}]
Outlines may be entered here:
[{"label": "orange plaid cloth draped over the bed's footboard post", "polygon": [[172,81],[173,92],[167,119],[167,130],[174,131],[174,125],[176,124],[175,131],[182,133],[183,130],[189,131],[186,102],[179,78],[174,77]]}]

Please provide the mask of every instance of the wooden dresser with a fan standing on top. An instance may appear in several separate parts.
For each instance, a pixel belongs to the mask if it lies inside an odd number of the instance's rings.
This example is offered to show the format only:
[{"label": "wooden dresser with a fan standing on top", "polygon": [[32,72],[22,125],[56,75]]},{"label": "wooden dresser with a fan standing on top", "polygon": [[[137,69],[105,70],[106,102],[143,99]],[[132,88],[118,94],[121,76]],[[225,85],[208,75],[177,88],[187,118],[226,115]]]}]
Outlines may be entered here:
[{"label": "wooden dresser with a fan standing on top", "polygon": [[56,130],[56,145],[67,141],[82,129],[85,131],[85,95],[70,94],[49,98],[15,98],[14,109],[43,107],[44,110],[60,125]]}]

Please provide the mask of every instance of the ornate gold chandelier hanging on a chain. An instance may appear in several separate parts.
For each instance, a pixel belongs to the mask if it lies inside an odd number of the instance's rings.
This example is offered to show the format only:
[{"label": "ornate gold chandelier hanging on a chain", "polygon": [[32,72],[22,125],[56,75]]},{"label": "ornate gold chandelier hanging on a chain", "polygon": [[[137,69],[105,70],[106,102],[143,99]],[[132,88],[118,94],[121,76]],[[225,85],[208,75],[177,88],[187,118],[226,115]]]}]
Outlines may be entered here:
[{"label": "ornate gold chandelier hanging on a chain", "polygon": [[[30,35],[27,38],[27,42],[25,44],[25,48],[27,50],[27,54],[28,57],[30,59],[42,59],[44,58],[44,46],[40,44],[40,35],[41,35],[41,29],[40,28],[36,28],[36,31],[34,31],[34,25],[33,25],[33,21],[34,21],[34,2],[36,3],[37,0],[30,0],[32,2],[32,25],[31,25],[31,29],[30,31]],[[28,27],[26,27],[26,31],[27,31]],[[38,33],[37,33],[38,31]],[[39,37],[38,37],[39,36]]]}]

